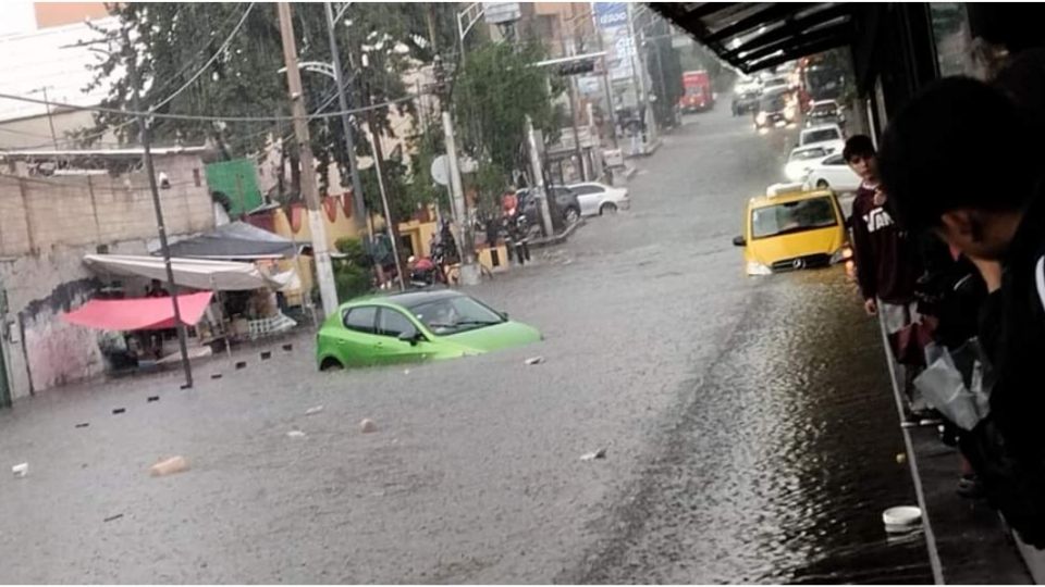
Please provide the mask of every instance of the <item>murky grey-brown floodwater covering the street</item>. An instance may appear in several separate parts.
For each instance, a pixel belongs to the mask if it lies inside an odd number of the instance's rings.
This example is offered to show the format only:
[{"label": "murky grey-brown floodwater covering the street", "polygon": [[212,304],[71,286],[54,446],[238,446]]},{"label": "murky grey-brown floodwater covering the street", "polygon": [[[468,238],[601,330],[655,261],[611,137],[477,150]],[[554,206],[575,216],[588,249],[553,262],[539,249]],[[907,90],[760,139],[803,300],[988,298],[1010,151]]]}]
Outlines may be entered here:
[{"label": "murky grey-brown floodwater covering the street", "polygon": [[[750,279],[730,243],[792,141],[688,117],[637,161],[630,212],[474,288],[537,346],[318,374],[304,336],[200,365],[193,390],[172,374],[0,413],[0,464],[29,463],[0,475],[0,580],[930,582],[920,537],[882,528],[914,496],[852,286]],[[192,469],[148,475],[174,454]]]}]

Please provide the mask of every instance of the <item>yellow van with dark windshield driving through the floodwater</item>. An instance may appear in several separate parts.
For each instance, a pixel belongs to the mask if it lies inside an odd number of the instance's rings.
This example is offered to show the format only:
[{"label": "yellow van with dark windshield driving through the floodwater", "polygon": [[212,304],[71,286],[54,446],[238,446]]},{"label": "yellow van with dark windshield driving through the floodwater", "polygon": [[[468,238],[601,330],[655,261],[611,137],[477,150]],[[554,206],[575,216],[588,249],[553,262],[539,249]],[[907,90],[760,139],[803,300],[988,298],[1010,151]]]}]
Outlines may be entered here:
[{"label": "yellow van with dark windshield driving through the floodwater", "polygon": [[846,242],[845,216],[835,195],[802,191],[794,184],[752,198],[743,214],[743,235],[733,239],[743,247],[748,275],[840,263],[852,257]]}]

